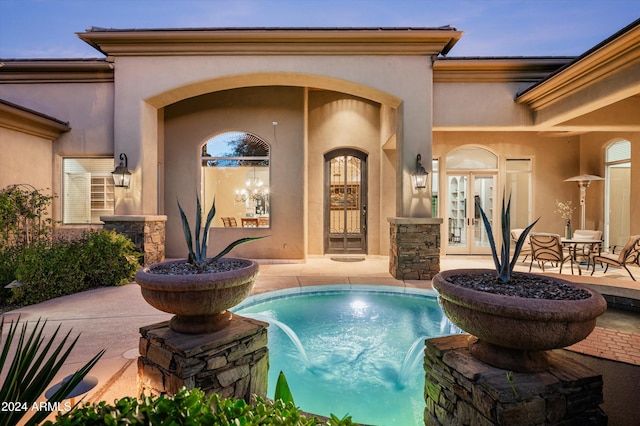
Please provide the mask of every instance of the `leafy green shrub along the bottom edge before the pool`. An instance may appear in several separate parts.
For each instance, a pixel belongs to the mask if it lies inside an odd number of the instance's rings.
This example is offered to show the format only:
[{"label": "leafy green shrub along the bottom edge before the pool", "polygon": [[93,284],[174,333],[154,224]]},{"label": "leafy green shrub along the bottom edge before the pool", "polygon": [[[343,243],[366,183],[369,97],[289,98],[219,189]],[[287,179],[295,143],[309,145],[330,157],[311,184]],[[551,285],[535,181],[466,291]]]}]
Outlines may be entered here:
[{"label": "leafy green shrub along the bottom edge before the pool", "polygon": [[[53,423],[47,422],[46,425]],[[56,425],[332,425],[348,426],[350,418],[328,421],[303,417],[293,403],[264,401],[255,405],[233,398],[223,399],[217,394],[205,396],[199,389],[182,389],[174,396],[145,397],[141,401],[126,397],[113,405],[102,401],[84,404],[67,414],[56,417]]]}]

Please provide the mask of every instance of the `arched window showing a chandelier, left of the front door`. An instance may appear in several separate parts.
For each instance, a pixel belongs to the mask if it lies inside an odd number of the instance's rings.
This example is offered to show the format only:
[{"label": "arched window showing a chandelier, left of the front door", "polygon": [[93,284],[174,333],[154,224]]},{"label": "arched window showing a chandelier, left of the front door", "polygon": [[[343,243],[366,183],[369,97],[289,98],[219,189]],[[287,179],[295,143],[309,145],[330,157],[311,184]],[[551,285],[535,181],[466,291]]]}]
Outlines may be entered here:
[{"label": "arched window showing a chandelier, left of the front door", "polygon": [[202,145],[205,214],[216,200],[213,226],[269,227],[269,144],[247,132],[226,132]]}]

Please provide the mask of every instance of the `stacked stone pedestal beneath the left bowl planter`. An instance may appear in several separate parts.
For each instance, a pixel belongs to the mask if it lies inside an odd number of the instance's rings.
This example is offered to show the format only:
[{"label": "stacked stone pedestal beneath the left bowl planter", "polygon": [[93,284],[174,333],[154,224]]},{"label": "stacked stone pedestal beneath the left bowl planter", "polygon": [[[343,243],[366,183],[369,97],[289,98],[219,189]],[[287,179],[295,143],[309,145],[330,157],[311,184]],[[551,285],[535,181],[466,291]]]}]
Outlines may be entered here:
[{"label": "stacked stone pedestal beneath the left bowl planter", "polygon": [[168,321],[140,328],[138,395],[173,395],[187,387],[247,402],[266,397],[267,327],[233,315],[226,328],[209,334],[176,333]]}]

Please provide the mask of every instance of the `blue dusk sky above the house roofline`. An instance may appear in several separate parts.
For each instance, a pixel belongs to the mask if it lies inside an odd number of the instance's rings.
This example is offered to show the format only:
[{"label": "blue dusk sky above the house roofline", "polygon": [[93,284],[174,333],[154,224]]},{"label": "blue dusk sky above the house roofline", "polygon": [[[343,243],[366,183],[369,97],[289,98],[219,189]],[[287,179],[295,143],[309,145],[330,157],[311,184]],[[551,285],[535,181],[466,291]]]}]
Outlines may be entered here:
[{"label": "blue dusk sky above the house roofline", "polygon": [[577,56],[640,17],[640,0],[0,0],[0,58],[99,58],[91,26],[439,27],[450,56]]}]

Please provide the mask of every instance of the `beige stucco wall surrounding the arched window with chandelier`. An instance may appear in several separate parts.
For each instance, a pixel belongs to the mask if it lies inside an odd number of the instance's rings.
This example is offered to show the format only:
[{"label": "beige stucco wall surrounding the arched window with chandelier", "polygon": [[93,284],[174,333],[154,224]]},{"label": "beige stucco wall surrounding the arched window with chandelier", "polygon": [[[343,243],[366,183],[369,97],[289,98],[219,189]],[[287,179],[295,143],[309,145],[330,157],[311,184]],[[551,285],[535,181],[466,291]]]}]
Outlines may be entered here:
[{"label": "beige stucco wall surrounding the arched window with chandelier", "polygon": [[[225,90],[187,99],[164,109],[164,198],[167,257],[183,257],[186,246],[176,198],[195,217],[200,194],[200,149],[210,137],[231,130],[253,133],[271,146],[271,229],[213,229],[209,254],[231,241],[270,235],[238,246],[232,255],[303,259],[304,89],[256,87]],[[278,125],[273,126],[273,122]],[[193,219],[191,219],[193,225]]]}]

